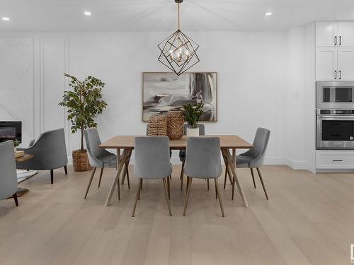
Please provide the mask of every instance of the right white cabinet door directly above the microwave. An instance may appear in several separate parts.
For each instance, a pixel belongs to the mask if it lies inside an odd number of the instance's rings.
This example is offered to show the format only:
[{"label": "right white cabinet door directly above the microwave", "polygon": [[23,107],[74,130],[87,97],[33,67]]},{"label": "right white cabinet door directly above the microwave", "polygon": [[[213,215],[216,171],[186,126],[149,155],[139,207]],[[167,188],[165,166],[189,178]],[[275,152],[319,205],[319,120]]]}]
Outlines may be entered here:
[{"label": "right white cabinet door directly above the microwave", "polygon": [[344,81],[354,80],[354,47],[338,48],[338,78]]}]

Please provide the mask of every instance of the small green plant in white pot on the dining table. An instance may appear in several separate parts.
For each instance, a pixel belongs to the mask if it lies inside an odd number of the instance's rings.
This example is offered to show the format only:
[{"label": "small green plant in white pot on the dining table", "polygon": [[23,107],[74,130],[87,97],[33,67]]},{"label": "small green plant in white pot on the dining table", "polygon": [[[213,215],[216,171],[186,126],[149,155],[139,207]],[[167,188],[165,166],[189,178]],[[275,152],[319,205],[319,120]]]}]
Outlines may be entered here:
[{"label": "small green plant in white pot on the dining table", "polygon": [[188,122],[187,137],[199,136],[198,122],[204,111],[202,108],[204,104],[202,102],[193,105],[188,103],[183,105],[182,112],[184,114],[185,120]]}]

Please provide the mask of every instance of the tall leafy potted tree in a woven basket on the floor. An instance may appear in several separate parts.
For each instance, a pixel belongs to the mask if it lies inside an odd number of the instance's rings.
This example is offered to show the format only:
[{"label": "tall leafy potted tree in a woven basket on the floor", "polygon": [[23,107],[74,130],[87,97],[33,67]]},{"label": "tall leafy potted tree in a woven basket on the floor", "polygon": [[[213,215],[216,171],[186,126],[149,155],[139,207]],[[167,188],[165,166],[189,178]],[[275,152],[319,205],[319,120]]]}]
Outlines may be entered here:
[{"label": "tall leafy potted tree in a woven basket on the floor", "polygon": [[102,88],[105,83],[100,79],[89,76],[84,81],[64,73],[70,79],[70,91],[64,91],[60,106],[67,107],[67,119],[71,122],[72,133],[81,133],[81,145],[79,150],[72,151],[72,160],[75,171],[91,170],[89,157],[84,149],[84,129],[97,127],[94,118],[103,112],[107,103],[102,100]]}]

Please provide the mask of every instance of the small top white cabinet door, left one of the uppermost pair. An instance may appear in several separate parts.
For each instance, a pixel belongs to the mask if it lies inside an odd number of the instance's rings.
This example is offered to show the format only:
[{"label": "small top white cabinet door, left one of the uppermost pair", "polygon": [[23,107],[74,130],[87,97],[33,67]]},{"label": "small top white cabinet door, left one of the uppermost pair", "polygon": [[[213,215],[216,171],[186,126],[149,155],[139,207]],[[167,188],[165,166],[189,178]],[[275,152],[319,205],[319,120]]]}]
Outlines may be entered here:
[{"label": "small top white cabinet door, left one of the uppermost pair", "polygon": [[338,45],[337,22],[316,23],[316,47],[335,47]]}]

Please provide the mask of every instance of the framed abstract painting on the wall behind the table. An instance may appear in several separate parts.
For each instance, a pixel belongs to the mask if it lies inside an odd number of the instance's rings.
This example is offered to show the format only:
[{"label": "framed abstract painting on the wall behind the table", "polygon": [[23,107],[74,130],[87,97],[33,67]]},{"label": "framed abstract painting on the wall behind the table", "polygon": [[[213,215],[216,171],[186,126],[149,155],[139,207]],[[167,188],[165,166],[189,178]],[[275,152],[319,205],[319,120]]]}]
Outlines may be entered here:
[{"label": "framed abstract painting on the wall behind the table", "polygon": [[142,101],[143,122],[189,102],[204,102],[200,122],[217,122],[217,73],[143,73]]}]

